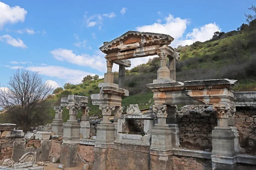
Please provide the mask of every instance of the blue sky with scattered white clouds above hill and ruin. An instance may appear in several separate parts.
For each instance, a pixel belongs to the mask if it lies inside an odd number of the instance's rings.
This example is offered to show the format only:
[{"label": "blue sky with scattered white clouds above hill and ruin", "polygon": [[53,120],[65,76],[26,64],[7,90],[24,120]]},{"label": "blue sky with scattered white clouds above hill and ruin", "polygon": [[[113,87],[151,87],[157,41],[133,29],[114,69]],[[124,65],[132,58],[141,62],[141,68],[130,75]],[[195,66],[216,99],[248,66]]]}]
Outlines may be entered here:
[{"label": "blue sky with scattered white clouds above hill and ruin", "polygon": [[[0,84],[13,71],[39,71],[54,86],[104,75],[99,47],[126,31],[169,34],[172,47],[209,40],[245,22],[254,0],[0,0]],[[149,57],[132,59],[132,67]],[[118,67],[115,65],[114,70]]]}]

